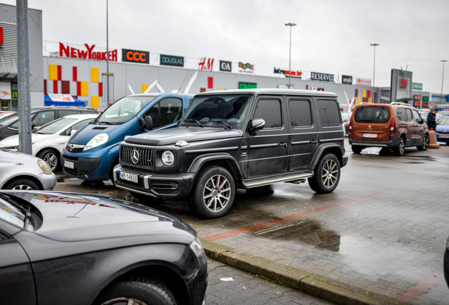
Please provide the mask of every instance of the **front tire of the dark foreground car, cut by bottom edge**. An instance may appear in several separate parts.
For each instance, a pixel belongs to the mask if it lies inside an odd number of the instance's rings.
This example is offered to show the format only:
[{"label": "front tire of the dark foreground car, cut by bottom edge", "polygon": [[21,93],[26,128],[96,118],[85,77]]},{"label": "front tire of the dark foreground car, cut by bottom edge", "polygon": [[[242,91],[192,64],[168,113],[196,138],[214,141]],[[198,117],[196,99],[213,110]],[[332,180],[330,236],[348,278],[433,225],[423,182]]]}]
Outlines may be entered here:
[{"label": "front tire of the dark foreground car, cut by bottom edge", "polygon": [[136,279],[107,287],[93,304],[176,305],[172,292],[157,280]]}]

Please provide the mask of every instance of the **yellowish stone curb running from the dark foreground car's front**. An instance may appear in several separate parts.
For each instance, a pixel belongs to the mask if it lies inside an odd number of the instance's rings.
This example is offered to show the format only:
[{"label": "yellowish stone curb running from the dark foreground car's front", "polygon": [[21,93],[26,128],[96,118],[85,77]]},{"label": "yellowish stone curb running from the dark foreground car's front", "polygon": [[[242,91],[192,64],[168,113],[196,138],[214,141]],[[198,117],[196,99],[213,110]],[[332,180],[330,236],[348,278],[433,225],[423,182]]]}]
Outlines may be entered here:
[{"label": "yellowish stone curb running from the dark foreground car's front", "polygon": [[280,282],[292,289],[341,305],[408,304],[376,292],[369,292],[316,273],[270,261],[261,256],[239,251],[214,241],[200,238],[208,258],[254,275]]}]

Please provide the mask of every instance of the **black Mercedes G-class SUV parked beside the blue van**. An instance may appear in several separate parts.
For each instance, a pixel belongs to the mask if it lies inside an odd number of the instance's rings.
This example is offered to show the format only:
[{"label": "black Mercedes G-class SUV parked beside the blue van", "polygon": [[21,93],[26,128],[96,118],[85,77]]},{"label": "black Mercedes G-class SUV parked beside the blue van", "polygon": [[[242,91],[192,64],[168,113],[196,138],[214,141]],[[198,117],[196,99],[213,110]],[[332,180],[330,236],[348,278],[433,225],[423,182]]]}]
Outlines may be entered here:
[{"label": "black Mercedes G-class SUV parked beside the blue van", "polygon": [[[152,128],[151,116],[140,128]],[[120,143],[114,183],[143,203],[187,198],[196,215],[226,214],[235,189],[276,182],[329,193],[347,164],[337,95],[253,89],[196,95],[176,128]]]}]

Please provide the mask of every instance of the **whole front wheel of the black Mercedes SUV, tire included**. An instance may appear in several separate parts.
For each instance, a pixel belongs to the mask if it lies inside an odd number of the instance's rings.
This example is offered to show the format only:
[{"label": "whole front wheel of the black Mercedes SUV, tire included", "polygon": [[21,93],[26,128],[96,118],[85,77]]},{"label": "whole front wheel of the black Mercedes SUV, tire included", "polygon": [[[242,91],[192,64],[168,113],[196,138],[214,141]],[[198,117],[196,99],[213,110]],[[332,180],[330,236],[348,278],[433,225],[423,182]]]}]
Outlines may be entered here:
[{"label": "whole front wheel of the black Mercedes SUV, tire included", "polygon": [[235,184],[223,167],[210,165],[200,170],[187,198],[188,208],[206,218],[222,217],[234,202]]}]

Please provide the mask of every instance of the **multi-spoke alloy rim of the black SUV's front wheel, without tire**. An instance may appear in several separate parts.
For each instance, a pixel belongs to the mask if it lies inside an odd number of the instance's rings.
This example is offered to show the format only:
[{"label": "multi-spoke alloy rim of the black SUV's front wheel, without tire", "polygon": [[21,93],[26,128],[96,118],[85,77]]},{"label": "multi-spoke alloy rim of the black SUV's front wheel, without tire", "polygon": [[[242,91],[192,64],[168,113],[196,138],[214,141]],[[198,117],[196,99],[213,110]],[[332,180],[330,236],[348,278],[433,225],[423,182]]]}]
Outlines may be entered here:
[{"label": "multi-spoke alloy rim of the black SUV's front wheel, without tire", "polygon": [[203,191],[205,207],[212,213],[220,212],[229,203],[231,190],[231,184],[224,175],[216,174],[210,177]]}]

